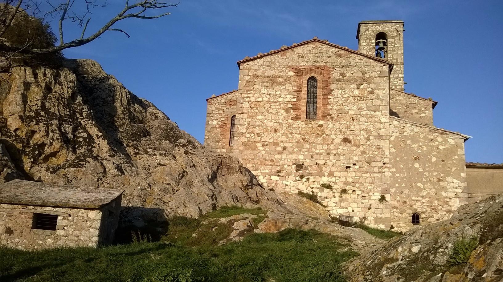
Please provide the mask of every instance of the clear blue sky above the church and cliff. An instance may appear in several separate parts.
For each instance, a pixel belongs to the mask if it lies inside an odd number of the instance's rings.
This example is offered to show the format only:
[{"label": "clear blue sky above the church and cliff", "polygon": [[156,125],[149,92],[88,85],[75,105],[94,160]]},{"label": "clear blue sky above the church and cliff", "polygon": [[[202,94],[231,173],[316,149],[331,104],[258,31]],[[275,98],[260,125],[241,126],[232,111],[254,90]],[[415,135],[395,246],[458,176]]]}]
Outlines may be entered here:
[{"label": "clear blue sky above the church and cliff", "polygon": [[[98,61],[203,142],[205,99],[237,88],[236,61],[314,36],[357,49],[358,22],[404,20],[405,90],[439,102],[437,127],[473,136],[467,161],[503,162],[503,1],[180,1],[65,56]],[[109,2],[88,33],[124,5]]]}]

